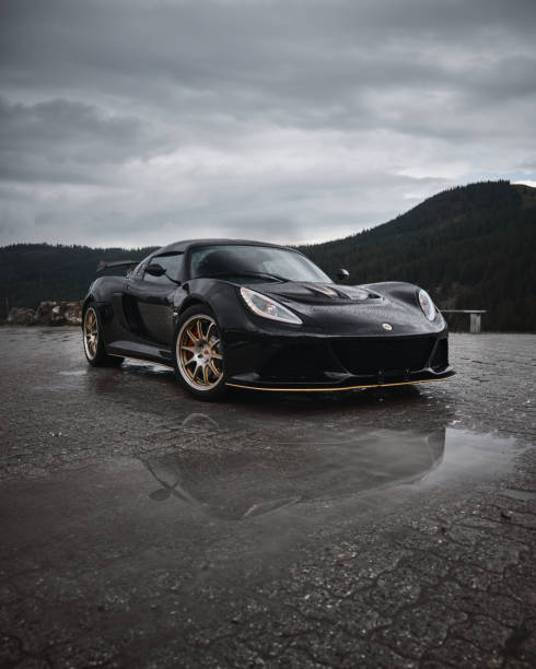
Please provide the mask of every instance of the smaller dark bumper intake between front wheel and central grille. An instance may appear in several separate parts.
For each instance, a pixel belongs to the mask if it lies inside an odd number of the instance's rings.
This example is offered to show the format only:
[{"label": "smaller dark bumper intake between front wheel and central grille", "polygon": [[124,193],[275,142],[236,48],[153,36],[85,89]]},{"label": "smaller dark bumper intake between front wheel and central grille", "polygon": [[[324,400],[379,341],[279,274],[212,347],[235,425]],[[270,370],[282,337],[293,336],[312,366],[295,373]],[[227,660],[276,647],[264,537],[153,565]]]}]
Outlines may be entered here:
[{"label": "smaller dark bumper intake between front wheel and central grille", "polygon": [[270,357],[260,375],[266,380],[314,382],[325,379],[324,372],[333,366],[325,347],[289,344]]}]

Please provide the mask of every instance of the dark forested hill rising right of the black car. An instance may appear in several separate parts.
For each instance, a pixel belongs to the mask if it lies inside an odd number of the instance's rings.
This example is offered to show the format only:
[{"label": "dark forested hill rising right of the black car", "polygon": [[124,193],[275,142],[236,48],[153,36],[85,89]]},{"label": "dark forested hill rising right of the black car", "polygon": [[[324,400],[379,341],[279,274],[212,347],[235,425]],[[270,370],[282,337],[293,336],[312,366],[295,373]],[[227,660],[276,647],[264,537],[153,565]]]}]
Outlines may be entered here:
[{"label": "dark forested hill rising right of the black car", "polygon": [[378,225],[300,250],[351,283],[409,281],[443,308],[487,309],[486,330],[536,331],[536,188],[509,181],[441,192]]}]

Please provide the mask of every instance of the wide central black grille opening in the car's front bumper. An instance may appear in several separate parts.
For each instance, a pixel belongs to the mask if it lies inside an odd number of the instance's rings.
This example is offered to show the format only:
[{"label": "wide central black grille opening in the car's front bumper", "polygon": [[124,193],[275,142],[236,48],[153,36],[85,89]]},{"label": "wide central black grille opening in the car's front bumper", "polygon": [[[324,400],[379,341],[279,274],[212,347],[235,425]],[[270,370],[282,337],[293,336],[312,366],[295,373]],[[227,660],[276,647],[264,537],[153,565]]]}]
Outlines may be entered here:
[{"label": "wide central black grille opening in the car's front bumper", "polygon": [[410,339],[352,339],[331,344],[342,365],[356,375],[417,372],[426,367],[434,337]]}]

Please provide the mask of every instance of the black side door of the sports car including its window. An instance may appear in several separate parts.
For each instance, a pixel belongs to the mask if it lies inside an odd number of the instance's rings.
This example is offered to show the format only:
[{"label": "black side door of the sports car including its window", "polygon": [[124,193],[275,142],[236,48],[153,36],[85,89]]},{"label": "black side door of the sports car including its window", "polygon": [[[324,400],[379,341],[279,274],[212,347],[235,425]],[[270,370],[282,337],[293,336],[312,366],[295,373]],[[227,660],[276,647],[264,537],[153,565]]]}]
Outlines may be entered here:
[{"label": "black side door of the sports car including its window", "polygon": [[166,272],[154,277],[147,271],[132,275],[125,289],[125,313],[132,332],[154,344],[173,343],[173,298],[182,275],[184,254],[153,256],[149,263]]}]

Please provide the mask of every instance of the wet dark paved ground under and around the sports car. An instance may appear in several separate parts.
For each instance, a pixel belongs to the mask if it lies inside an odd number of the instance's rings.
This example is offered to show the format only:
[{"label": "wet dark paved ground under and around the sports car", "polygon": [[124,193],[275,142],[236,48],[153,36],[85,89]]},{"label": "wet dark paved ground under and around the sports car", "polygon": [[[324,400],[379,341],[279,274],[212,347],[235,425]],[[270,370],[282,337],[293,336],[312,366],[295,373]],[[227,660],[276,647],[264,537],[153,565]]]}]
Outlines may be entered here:
[{"label": "wet dark paved ground under and around the sports car", "polygon": [[218,404],[77,329],[0,350],[0,667],[536,666],[535,336]]}]

